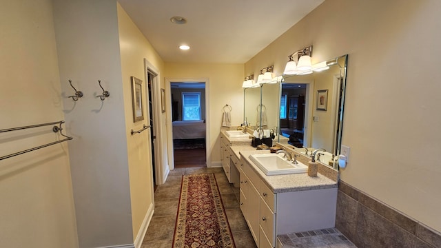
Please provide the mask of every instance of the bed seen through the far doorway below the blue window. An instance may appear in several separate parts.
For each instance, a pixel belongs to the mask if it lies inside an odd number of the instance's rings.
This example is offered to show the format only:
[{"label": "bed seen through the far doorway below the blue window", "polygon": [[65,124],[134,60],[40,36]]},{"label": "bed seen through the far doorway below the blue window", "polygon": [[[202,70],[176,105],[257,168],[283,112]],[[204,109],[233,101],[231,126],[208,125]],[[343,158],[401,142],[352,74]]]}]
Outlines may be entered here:
[{"label": "bed seen through the far doorway below the blue window", "polygon": [[205,121],[174,121],[173,139],[205,138]]}]

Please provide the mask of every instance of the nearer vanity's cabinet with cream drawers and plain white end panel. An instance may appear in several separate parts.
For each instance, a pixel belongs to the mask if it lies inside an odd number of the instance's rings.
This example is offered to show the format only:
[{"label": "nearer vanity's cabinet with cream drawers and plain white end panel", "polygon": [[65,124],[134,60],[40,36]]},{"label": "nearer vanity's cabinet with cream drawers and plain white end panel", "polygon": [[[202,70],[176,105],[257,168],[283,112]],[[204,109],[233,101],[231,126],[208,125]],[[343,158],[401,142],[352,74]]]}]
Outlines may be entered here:
[{"label": "nearer vanity's cabinet with cream drawers and plain white end panel", "polygon": [[240,159],[240,209],[257,247],[276,247],[279,234],[334,227],[337,187],[274,193],[251,163]]}]

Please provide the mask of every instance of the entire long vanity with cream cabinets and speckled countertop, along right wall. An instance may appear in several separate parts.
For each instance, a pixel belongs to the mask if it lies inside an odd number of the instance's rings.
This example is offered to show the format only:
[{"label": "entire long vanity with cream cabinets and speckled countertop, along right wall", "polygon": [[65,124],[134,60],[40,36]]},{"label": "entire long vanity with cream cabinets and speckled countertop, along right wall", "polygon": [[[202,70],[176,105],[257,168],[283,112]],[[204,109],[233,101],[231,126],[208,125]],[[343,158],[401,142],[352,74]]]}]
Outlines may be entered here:
[{"label": "entire long vanity with cream cabinets and speckled countertop, along right wall", "polygon": [[234,141],[225,131],[221,140],[225,174],[230,183],[238,181],[240,209],[259,248],[276,247],[280,234],[334,227],[336,180],[320,173],[316,178],[306,173],[266,176],[249,156],[269,150]]}]

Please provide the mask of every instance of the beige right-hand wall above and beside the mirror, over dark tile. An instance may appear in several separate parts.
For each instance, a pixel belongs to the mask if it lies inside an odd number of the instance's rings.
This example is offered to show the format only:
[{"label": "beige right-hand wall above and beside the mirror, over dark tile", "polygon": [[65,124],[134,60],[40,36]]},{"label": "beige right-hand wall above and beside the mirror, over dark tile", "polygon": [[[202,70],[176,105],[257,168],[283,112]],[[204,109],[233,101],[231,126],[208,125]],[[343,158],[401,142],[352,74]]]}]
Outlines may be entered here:
[{"label": "beige right-hand wall above and beside the mirror, over dark tile", "polygon": [[281,74],[307,45],[315,62],[349,54],[341,178],[437,231],[440,9],[436,0],[325,1],[245,64],[250,74],[274,62]]}]

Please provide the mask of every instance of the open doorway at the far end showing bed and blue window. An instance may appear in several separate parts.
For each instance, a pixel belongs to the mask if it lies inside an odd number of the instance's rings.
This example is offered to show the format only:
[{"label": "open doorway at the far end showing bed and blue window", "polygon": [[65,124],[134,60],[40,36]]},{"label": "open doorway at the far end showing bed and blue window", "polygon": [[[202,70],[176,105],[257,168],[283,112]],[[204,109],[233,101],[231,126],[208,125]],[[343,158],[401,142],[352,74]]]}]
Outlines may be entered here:
[{"label": "open doorway at the far end showing bed and blue window", "polygon": [[205,82],[172,82],[170,89],[174,167],[205,167]]}]

